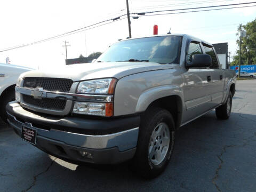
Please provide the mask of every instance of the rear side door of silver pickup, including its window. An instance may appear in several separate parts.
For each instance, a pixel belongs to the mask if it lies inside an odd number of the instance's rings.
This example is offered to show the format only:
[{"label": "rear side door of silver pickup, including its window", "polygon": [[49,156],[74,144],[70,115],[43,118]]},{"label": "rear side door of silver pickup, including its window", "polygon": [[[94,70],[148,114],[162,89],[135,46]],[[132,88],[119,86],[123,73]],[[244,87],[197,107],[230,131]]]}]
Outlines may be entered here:
[{"label": "rear side door of silver pickup, including its window", "polygon": [[224,89],[224,77],[223,70],[221,69],[217,55],[215,54],[214,48],[212,45],[207,45],[203,43],[205,54],[209,54],[212,58],[211,70],[211,107],[215,107],[222,102],[223,98],[223,89]]}]

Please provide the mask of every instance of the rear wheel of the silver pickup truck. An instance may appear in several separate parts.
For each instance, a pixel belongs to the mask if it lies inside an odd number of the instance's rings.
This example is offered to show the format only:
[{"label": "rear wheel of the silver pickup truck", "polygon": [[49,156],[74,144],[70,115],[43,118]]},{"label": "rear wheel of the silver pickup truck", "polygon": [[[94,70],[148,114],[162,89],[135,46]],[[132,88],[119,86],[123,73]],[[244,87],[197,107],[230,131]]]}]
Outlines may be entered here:
[{"label": "rear wheel of the silver pickup truck", "polygon": [[[215,109],[215,114],[218,119],[228,119],[231,113],[231,108],[232,108],[232,98],[233,94],[231,91],[229,91],[227,101],[224,105],[217,107]],[[228,105],[230,106],[228,109]]]}]

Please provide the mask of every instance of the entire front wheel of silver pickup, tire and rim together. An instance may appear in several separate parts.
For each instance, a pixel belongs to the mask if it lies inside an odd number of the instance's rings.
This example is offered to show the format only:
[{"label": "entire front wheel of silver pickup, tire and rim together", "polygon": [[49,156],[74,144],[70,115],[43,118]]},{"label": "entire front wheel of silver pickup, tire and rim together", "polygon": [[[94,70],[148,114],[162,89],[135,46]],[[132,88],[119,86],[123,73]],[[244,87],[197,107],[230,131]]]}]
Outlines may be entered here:
[{"label": "entire front wheel of silver pickup, tire and rim together", "polygon": [[172,115],[162,108],[148,109],[141,119],[135,170],[145,178],[161,174],[170,161],[174,146],[175,127]]}]

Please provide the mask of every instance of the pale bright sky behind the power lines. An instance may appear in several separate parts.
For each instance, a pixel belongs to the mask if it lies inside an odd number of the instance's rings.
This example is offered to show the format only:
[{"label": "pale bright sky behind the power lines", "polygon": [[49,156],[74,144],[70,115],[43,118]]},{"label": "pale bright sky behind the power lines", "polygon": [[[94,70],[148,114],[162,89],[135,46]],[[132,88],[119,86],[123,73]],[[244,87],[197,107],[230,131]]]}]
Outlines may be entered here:
[{"label": "pale bright sky behind the power lines", "polygon": [[[201,4],[199,4],[201,2]],[[239,0],[130,0],[131,12],[186,7],[211,6],[221,4],[245,3]],[[180,4],[183,3],[183,4]],[[195,3],[195,4],[193,4]],[[192,5],[186,5],[192,4]],[[164,5],[164,7],[153,7]],[[256,5],[256,4],[254,4]],[[114,18],[125,13],[125,0],[109,1],[1,1],[0,12],[2,28],[0,31],[0,50],[6,47],[25,44],[62,34],[70,30],[90,25],[97,21]],[[146,7],[147,6],[147,7]],[[145,7],[147,9],[145,9]],[[151,9],[153,8],[153,9]],[[123,10],[123,11],[121,11]],[[184,33],[204,39],[210,43],[228,42],[231,55],[235,53],[236,30],[239,23],[247,23],[256,18],[256,7],[140,17],[132,19],[132,36],[141,37],[153,34],[153,26],[158,25],[158,34]],[[0,62],[9,57],[12,64],[33,68],[65,66],[63,41],[67,40],[68,58],[80,54],[88,55],[107,49],[128,34],[127,20],[86,30],[85,32],[54,39],[12,51],[0,53]]]}]

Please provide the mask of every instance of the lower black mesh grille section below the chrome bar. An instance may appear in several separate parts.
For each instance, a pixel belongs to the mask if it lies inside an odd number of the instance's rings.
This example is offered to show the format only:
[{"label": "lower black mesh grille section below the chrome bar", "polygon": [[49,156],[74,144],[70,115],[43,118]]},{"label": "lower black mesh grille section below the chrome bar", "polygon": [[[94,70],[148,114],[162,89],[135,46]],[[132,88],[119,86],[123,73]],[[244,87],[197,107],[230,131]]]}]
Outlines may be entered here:
[{"label": "lower black mesh grille section below the chrome bar", "polygon": [[26,104],[44,109],[64,110],[66,106],[66,100],[48,98],[35,99],[33,96],[25,94],[22,95],[22,98]]}]

